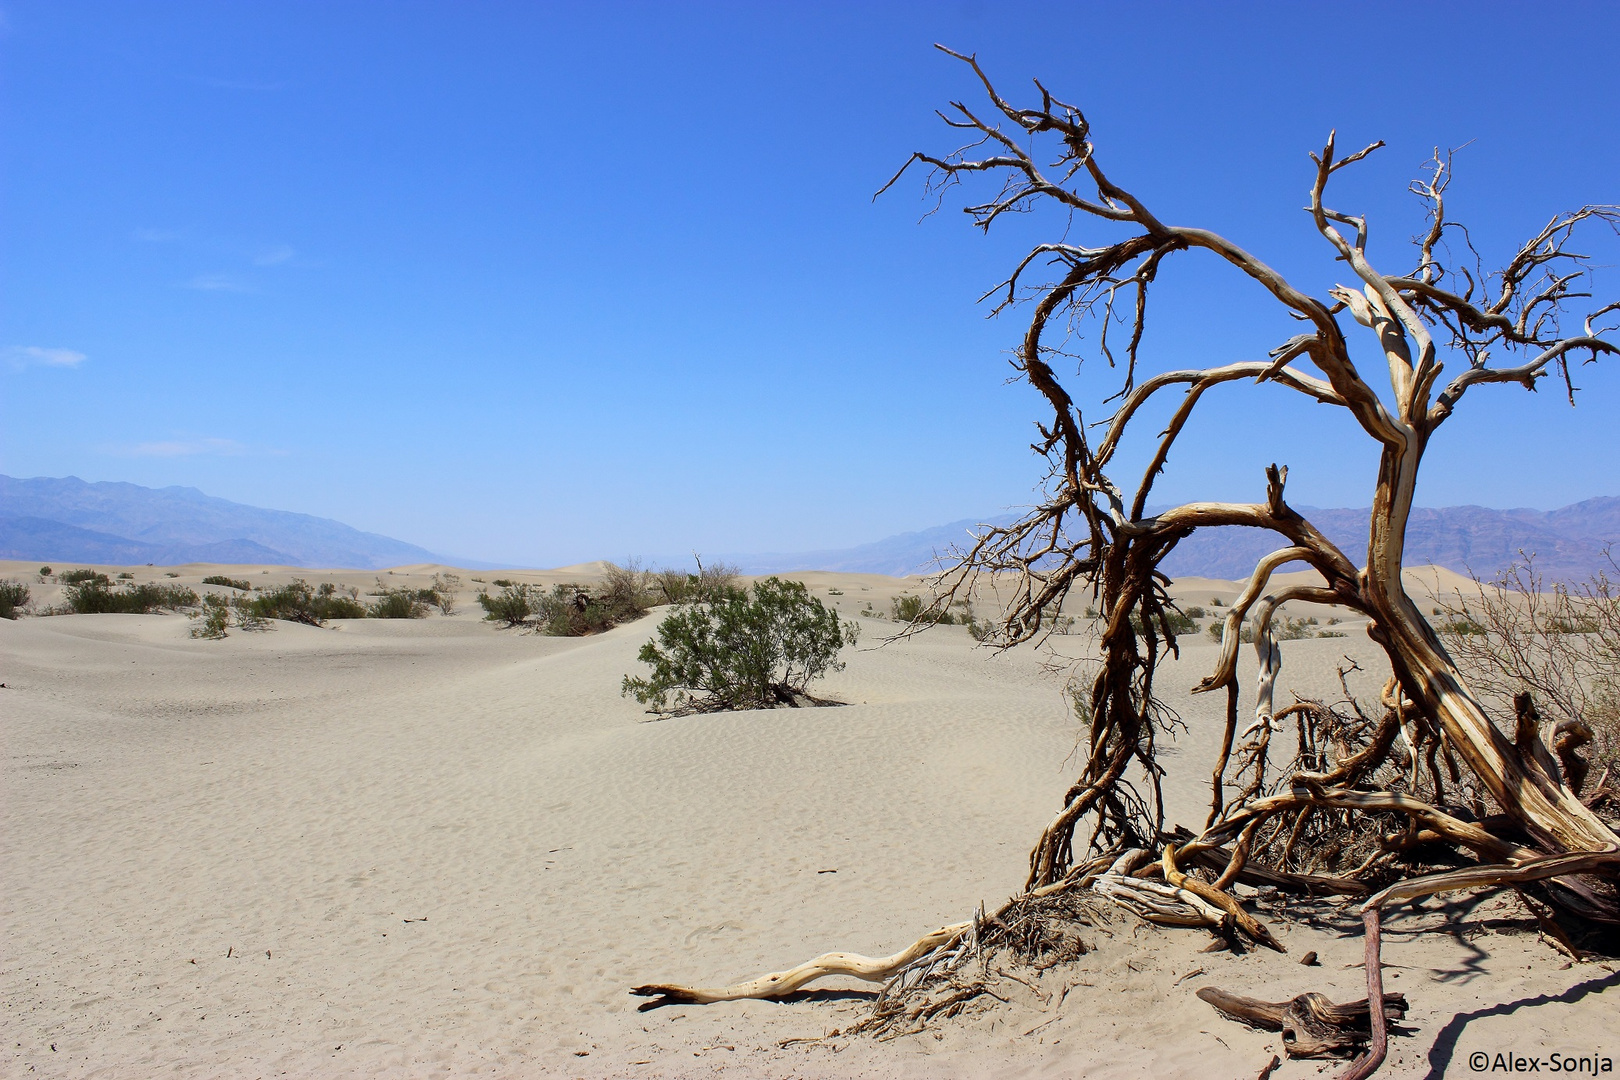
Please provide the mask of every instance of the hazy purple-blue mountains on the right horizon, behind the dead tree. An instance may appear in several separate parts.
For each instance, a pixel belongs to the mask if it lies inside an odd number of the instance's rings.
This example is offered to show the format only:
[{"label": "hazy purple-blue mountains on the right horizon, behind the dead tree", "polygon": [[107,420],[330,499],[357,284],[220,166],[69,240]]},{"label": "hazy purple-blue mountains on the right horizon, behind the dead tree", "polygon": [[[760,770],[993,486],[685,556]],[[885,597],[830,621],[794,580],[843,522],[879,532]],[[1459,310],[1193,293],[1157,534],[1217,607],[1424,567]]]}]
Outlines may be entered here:
[{"label": "hazy purple-blue mountains on the right horizon, behind the dead tree", "polygon": [[[1298,507],[1340,551],[1362,565],[1367,555],[1369,510],[1320,510]],[[964,518],[920,533],[901,533],[873,544],[799,554],[727,555],[744,573],[789,570],[842,570],[904,576],[928,573],[953,546],[970,542],[980,523],[1006,525],[1011,515]],[[1406,565],[1437,565],[1458,573],[1490,578],[1520,557],[1536,555],[1549,581],[1581,581],[1599,570],[1614,572],[1604,557],[1609,542],[1620,544],[1620,499],[1601,497],[1562,510],[1490,510],[1487,507],[1416,508],[1406,529]],[[1165,560],[1171,576],[1246,578],[1254,563],[1281,546],[1264,529],[1202,529],[1181,541]],[[1620,547],[1617,547],[1620,552]],[[1291,568],[1299,568],[1298,565]]]}]

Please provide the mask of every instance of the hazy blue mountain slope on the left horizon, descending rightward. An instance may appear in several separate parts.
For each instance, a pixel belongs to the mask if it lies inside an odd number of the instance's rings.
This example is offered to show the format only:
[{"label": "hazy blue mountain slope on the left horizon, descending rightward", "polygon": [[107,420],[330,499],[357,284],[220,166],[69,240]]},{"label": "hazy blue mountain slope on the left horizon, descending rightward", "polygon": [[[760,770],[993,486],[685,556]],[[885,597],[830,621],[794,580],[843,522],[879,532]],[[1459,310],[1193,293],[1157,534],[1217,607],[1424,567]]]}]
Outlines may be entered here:
[{"label": "hazy blue mountain slope on the left horizon, descending rightward", "polygon": [[342,521],[261,510],[204,495],[196,487],[87,484],[76,476],[0,476],[0,559],[356,570],[452,562]]}]

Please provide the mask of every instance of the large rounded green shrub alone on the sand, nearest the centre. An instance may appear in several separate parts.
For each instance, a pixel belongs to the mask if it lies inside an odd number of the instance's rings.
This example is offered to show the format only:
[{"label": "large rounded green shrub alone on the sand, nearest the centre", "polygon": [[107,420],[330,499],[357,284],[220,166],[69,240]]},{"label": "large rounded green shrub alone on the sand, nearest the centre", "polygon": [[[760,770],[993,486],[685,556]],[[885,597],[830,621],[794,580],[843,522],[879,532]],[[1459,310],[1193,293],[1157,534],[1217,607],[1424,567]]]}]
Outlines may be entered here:
[{"label": "large rounded green shrub alone on the sand, nearest the centre", "polygon": [[799,581],[766,578],[677,606],[638,654],[651,674],[620,690],[658,712],[818,704],[810,683],[842,670],[839,649],[857,635]]}]

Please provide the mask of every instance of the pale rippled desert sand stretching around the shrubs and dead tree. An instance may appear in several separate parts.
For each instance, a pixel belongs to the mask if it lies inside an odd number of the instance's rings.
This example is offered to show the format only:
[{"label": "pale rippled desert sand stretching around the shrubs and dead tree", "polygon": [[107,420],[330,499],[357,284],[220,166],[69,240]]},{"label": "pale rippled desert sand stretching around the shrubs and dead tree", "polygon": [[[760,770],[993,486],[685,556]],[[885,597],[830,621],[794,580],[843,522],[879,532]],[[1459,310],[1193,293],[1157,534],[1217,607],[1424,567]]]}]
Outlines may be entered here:
[{"label": "pale rippled desert sand stretching around the shrubs and dead tree", "polygon": [[[32,570],[0,563],[53,602]],[[857,619],[919,591],[795,576]],[[1210,604],[1236,588],[1176,591]],[[995,908],[1072,779],[1076,724],[1050,661],[1084,643],[991,656],[940,627],[878,648],[894,623],[862,619],[825,683],[846,708],[651,721],[619,680],[654,619],[556,640],[480,615],[468,591],[450,617],[224,641],[191,640],[178,615],[0,622],[0,1074],[1252,1077],[1280,1038],[1221,1020],[1197,988],[1364,994],[1359,921],[1324,904],[1273,923],[1288,955],[1202,954],[1204,934],[1121,918],[1008,1004],[889,1043],[820,1038],[859,1018],[872,988],[854,980],[784,1004],[638,1012],[635,983],[886,954]],[[1332,695],[1351,656],[1354,687],[1375,690],[1361,628],[1335,630],[1285,646],[1280,688]],[[1186,690],[1212,659],[1200,636],[1163,675],[1187,724],[1166,797],[1194,827],[1221,703]],[[1322,967],[1301,967],[1306,950]],[[1620,1059],[1620,975],[1563,965],[1511,902],[1405,910],[1385,960],[1414,1031],[1380,1075],[1464,1075],[1476,1052],[1542,1072],[1552,1052]]]}]

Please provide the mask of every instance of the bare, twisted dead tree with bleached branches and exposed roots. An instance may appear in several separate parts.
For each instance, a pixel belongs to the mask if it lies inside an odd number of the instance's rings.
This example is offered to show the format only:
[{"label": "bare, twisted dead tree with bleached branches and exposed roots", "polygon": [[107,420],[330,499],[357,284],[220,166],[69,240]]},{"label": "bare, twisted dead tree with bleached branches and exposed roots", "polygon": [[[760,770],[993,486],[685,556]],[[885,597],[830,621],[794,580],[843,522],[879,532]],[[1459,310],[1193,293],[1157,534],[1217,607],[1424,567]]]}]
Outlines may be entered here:
[{"label": "bare, twisted dead tree with bleached branches and exposed roots", "polygon": [[[1345,264],[1351,279],[1319,298],[1225,236],[1160,219],[1103,172],[1090,125],[1077,107],[1058,100],[1040,83],[1035,83],[1037,105],[1014,105],[995,89],[974,57],[944,52],[972,68],[987,107],[953,102],[951,110],[940,115],[966,133],[967,144],[946,155],[914,154],[883,189],[923,168],[928,191],[943,201],[959,185],[987,178],[991,196],[962,207],[978,228],[990,230],[1004,214],[1043,204],[1064,212],[1069,222],[1064,240],[1037,244],[987,295],[998,296],[996,311],[1025,308],[1030,313],[1013,364],[1050,410],[1038,424],[1035,444],[1048,463],[1043,499],[1019,521],[983,529],[959,552],[956,567],[941,575],[935,599],[943,610],[957,596],[970,596],[980,575],[993,575],[1003,594],[1011,581],[1011,602],[996,641],[1003,648],[1050,631],[1071,593],[1094,596],[1102,610],[1102,662],[1082,709],[1090,725],[1084,767],[1030,853],[1024,897],[1102,882],[1115,892],[1134,892],[1137,904],[1170,905],[1163,921],[1225,921],[1260,941],[1264,928],[1254,931],[1241,925],[1247,916],[1230,894],[1230,884],[1254,873],[1265,874],[1270,882],[1299,884],[1302,874],[1264,866],[1257,852],[1264,847],[1265,829],[1275,832],[1286,824],[1283,831],[1298,837],[1312,814],[1333,821],[1405,819],[1408,844],[1418,837],[1443,840],[1482,865],[1466,878],[1469,886],[1529,879],[1516,870],[1520,866],[1570,865],[1583,873],[1607,868],[1612,879],[1615,860],[1610,855],[1620,847],[1620,837],[1570,790],[1534,727],[1524,730],[1521,725],[1508,737],[1492,724],[1406,594],[1401,562],[1424,453],[1473,387],[1516,384],[1534,390],[1542,379],[1557,376],[1573,403],[1571,363],[1620,351],[1612,340],[1615,327],[1602,325],[1620,303],[1591,300],[1586,259],[1571,248],[1581,228],[1620,228],[1620,207],[1586,206],[1560,214],[1500,270],[1487,274],[1468,233],[1447,217],[1452,162],[1437,152],[1426,178],[1413,185],[1429,210],[1427,228],[1416,240],[1416,261],[1405,272],[1383,274],[1369,256],[1367,220],[1328,202],[1333,176],[1382,142],[1340,155],[1330,134],[1320,154],[1311,155],[1309,220],[1324,241],[1324,254]],[[1094,225],[1103,240],[1072,238],[1084,236]],[[1450,261],[1452,241],[1466,248],[1474,266]],[[1264,358],[1149,374],[1147,364],[1139,364],[1139,353],[1155,279],[1168,259],[1192,251],[1215,256],[1249,279],[1299,322],[1299,334],[1278,342]],[[1377,379],[1351,361],[1346,334],[1354,330],[1346,322],[1364,327],[1377,343],[1387,368]],[[1580,329],[1571,330],[1571,325]],[[1081,327],[1095,327],[1090,355],[1077,351],[1076,330]],[[1507,366],[1494,364],[1494,355],[1513,359]],[[1442,379],[1447,361],[1453,374]],[[1059,377],[1056,366],[1063,363],[1106,363],[1118,374],[1116,392],[1098,403],[1110,413],[1100,419],[1082,413],[1082,403]],[[1341,408],[1377,444],[1380,457],[1364,568],[1288,505],[1288,470],[1275,465],[1267,470],[1264,500],[1192,502],[1147,515],[1153,483],[1200,398],[1215,387],[1239,382],[1270,382]],[[1113,465],[1126,432],[1144,405],[1174,392],[1181,393],[1179,403],[1157,437],[1147,470],[1134,486],[1118,483]],[[1176,649],[1168,619],[1168,580],[1158,567],[1194,531],[1228,526],[1268,529],[1277,534],[1278,549],[1259,562],[1228,609],[1215,670],[1197,687],[1197,691],[1225,693],[1225,738],[1205,829],[1176,839],[1165,829],[1158,795],[1162,769],[1155,755],[1155,737],[1163,732],[1165,719],[1155,699],[1153,675],[1166,651]],[[1270,588],[1273,572],[1291,562],[1309,565],[1319,580]],[[1296,766],[1293,774],[1268,782],[1265,763],[1273,732],[1298,712],[1293,719],[1301,724],[1304,746],[1304,725],[1312,724],[1312,732],[1320,727],[1307,716],[1309,709],[1281,709],[1275,703],[1281,654],[1272,620],[1290,601],[1330,604],[1366,615],[1369,635],[1388,656],[1395,678],[1385,691],[1383,721],[1367,717],[1361,735],[1343,742],[1335,755],[1319,755],[1309,767]],[[1246,622],[1254,631],[1260,677],[1254,722],[1239,737],[1236,661]],[[1430,800],[1421,798],[1411,785],[1393,790],[1375,779],[1379,769],[1388,771],[1387,759],[1401,732],[1409,732],[1414,763],[1422,756],[1419,748],[1430,756]],[[1244,771],[1236,782],[1234,769]],[[1463,819],[1440,805],[1440,779],[1447,774],[1453,789],[1460,779],[1476,784],[1500,811],[1505,827],[1492,829],[1489,819]],[[1225,792],[1231,785],[1239,787],[1239,795],[1228,801]],[[1084,847],[1076,842],[1082,827]],[[1400,837],[1385,840],[1380,858],[1401,848]],[[1291,845],[1293,839],[1280,839],[1265,850],[1286,852]],[[1132,850],[1142,858],[1128,860]],[[1152,853],[1158,858],[1149,858]],[[1562,857],[1573,857],[1573,861],[1545,861]],[[1213,882],[1178,868],[1178,861],[1209,865],[1212,858],[1221,868]],[[1137,868],[1142,861],[1149,866]],[[1103,870],[1110,863],[1113,868]],[[1340,892],[1371,892],[1356,881],[1359,870],[1319,876],[1312,884],[1332,881]],[[1388,860],[1383,870],[1388,878]],[[1149,874],[1163,876],[1163,886],[1157,886],[1163,894],[1147,895],[1140,886],[1129,884]],[[1620,918],[1607,881],[1591,876],[1560,881],[1567,886],[1555,894],[1560,904],[1588,918]],[[1371,929],[1377,905],[1369,912]],[[1374,931],[1369,941],[1374,950],[1371,1001],[1382,999],[1382,988],[1374,984],[1375,942]],[[938,946],[946,947],[956,947],[956,941]],[[915,963],[919,960],[907,957],[899,968]],[[872,968],[863,970],[870,976]],[[1382,1048],[1382,1012],[1374,1009],[1372,1014],[1374,1041]],[[1382,1049],[1377,1056],[1382,1059]],[[1372,1067],[1377,1061],[1359,1065]]]}]

